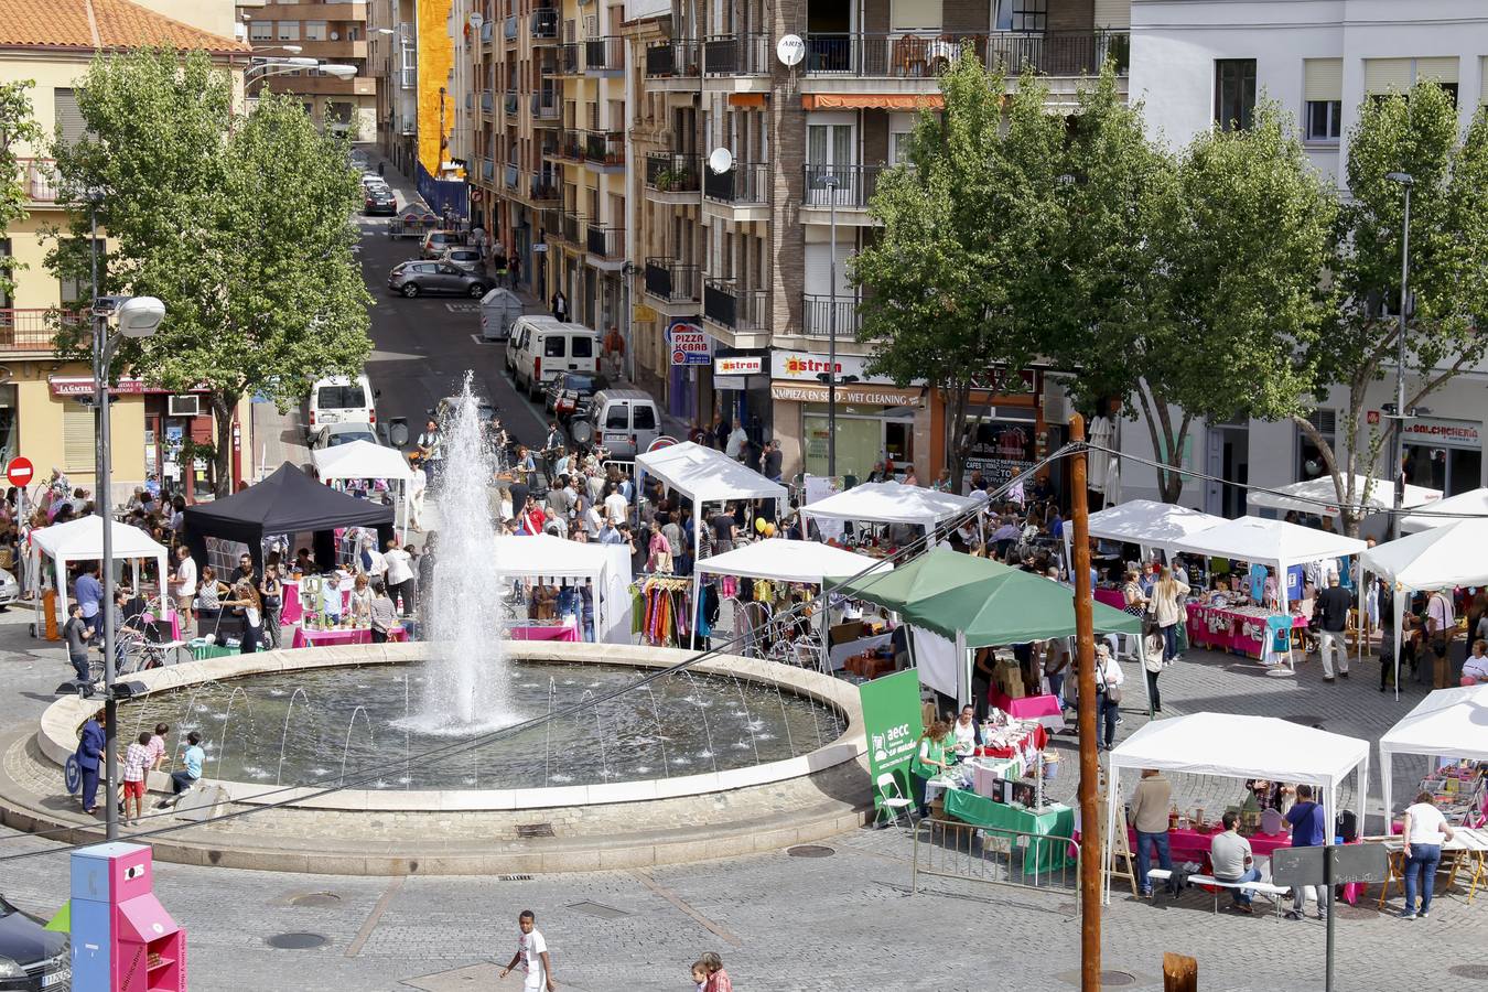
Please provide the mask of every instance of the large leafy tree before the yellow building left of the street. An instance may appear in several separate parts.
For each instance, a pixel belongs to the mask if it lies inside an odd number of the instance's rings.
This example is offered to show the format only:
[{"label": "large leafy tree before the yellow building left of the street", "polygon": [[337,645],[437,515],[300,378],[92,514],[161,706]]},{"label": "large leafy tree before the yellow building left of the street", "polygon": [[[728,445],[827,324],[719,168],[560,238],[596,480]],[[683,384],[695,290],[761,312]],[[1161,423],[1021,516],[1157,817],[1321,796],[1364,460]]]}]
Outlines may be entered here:
[{"label": "large leafy tree before the yellow building left of the street", "polygon": [[[238,402],[281,409],[324,375],[354,373],[371,352],[371,296],[351,253],[359,183],[341,141],[321,135],[289,97],[234,110],[228,73],[207,55],[101,55],[77,98],[88,134],[57,143],[64,190],[94,190],[115,239],[106,289],[158,296],[156,336],[128,341],[121,363],[170,390],[205,388],[217,437]],[[62,271],[88,233],[51,254]],[[64,329],[60,344],[68,341]],[[231,486],[231,445],[216,451],[217,494]]]}]

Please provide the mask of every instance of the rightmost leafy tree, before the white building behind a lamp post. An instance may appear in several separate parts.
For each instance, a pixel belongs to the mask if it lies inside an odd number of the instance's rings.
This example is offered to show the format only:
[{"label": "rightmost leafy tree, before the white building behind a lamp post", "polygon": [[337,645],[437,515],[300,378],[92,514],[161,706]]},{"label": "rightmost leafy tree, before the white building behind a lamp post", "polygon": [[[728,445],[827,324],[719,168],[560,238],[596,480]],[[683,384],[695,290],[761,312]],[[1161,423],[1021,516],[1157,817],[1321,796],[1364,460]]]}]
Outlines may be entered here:
[{"label": "rightmost leafy tree, before the white building behind a lamp post", "polygon": [[1390,173],[1415,180],[1406,408],[1476,364],[1488,347],[1478,327],[1478,317],[1488,312],[1488,117],[1479,110],[1460,140],[1455,100],[1434,82],[1420,82],[1403,95],[1369,97],[1350,131],[1350,199],[1338,217],[1330,262],[1336,309],[1308,355],[1320,381],[1341,385],[1347,396],[1335,418],[1336,442],[1323,436],[1311,410],[1295,416],[1321,452],[1342,529],[1351,535],[1359,532],[1379,455],[1394,430],[1364,422],[1369,388],[1393,370],[1400,344],[1405,190],[1387,178]]}]

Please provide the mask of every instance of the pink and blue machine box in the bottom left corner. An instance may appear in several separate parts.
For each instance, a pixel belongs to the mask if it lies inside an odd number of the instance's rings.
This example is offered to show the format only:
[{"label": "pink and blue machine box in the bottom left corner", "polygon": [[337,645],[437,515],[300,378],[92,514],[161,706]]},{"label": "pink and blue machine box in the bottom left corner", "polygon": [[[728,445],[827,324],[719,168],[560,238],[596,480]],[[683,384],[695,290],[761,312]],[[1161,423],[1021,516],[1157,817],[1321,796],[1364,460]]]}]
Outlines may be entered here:
[{"label": "pink and blue machine box in the bottom left corner", "polygon": [[185,992],[186,931],[155,898],[150,848],[74,851],[71,880],[74,992]]}]

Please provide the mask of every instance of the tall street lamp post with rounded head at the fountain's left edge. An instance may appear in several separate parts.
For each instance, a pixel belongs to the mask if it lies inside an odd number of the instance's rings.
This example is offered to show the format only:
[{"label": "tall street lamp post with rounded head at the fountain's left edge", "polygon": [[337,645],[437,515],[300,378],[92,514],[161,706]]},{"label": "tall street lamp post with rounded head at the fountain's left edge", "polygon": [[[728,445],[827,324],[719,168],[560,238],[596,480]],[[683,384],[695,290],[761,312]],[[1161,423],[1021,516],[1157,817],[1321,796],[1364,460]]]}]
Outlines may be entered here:
[{"label": "tall street lamp post with rounded head at the fountain's left edge", "polygon": [[[113,463],[112,433],[109,425],[109,363],[124,338],[149,338],[165,317],[165,305],[153,296],[98,296],[98,208],[88,205],[88,220],[92,228],[89,263],[92,269],[92,361],[94,361],[94,409],[98,410],[98,464],[95,466],[95,512],[103,518],[103,692],[104,692],[104,753],[106,800],[104,825],[110,840],[119,836],[119,756],[115,750],[118,732],[118,700],[113,683],[118,665],[113,653]],[[118,333],[109,336],[109,321],[118,326]],[[165,595],[165,576],[161,576],[161,595]]]}]

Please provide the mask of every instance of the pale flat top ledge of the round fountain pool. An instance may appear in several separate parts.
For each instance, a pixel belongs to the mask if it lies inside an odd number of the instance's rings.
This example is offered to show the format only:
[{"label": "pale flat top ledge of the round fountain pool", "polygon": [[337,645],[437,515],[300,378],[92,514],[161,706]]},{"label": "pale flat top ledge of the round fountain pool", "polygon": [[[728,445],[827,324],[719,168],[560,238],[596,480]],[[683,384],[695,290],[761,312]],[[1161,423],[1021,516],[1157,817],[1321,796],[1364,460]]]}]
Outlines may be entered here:
[{"label": "pale flat top ledge of the round fountain pool", "polygon": [[[128,681],[143,683],[146,695],[182,689],[207,681],[225,681],[246,675],[266,675],[317,668],[350,668],[357,665],[397,665],[427,660],[430,645],[359,644],[314,648],[259,651],[205,660],[183,662],[131,675]],[[595,665],[625,665],[631,668],[668,668],[693,656],[693,651],[635,644],[573,644],[554,641],[507,641],[507,657],[539,662],[586,662]],[[510,790],[363,790],[345,788],[318,796],[321,788],[281,788],[232,779],[205,779],[220,787],[225,799],[250,806],[295,802],[304,809],[368,811],[368,812],[437,812],[437,811],[515,811],[554,806],[592,806],[606,803],[646,802],[698,796],[704,793],[766,785],[802,778],[838,764],[856,761],[866,753],[863,714],[857,687],[830,675],[792,665],[762,662],[740,654],[714,654],[698,662],[692,671],[713,675],[734,675],[747,681],[780,686],[838,709],[845,718],[845,730],[823,747],[783,761],[766,761],[726,772],[682,775],[674,778],[638,779],[631,782],[600,782],[594,785],[559,785]],[[98,699],[68,696],[42,712],[37,742],[42,753],[57,764],[64,764],[76,750],[77,727],[98,709]],[[152,772],[165,787],[168,779]],[[156,782],[152,781],[152,787]]]}]

